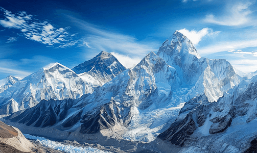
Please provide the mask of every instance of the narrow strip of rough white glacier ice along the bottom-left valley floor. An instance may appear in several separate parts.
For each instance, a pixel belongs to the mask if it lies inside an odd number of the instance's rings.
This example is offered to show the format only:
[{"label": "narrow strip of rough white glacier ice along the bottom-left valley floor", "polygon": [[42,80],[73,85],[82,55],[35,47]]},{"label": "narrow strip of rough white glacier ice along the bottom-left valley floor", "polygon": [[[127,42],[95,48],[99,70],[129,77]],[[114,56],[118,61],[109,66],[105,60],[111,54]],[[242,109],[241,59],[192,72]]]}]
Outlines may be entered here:
[{"label": "narrow strip of rough white glacier ice along the bottom-left valley floor", "polygon": [[29,134],[24,134],[24,136],[27,139],[32,139],[40,142],[42,146],[53,148],[55,150],[61,150],[69,153],[111,153],[110,151],[102,151],[97,148],[92,148],[92,147],[77,147],[73,145],[66,145],[59,143],[57,141],[51,141],[49,139],[43,138],[43,137],[37,137],[37,136],[32,136]]}]

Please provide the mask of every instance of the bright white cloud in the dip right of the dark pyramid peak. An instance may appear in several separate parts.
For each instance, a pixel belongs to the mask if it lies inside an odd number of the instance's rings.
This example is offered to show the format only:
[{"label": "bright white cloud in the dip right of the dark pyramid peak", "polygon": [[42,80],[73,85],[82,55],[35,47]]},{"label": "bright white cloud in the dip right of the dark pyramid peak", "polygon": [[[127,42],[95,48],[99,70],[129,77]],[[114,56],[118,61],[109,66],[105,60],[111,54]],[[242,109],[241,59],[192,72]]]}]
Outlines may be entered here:
[{"label": "bright white cloud in the dip right of the dark pyramid peak", "polygon": [[126,68],[132,68],[135,67],[136,64],[138,64],[141,61],[141,58],[135,57],[131,58],[127,55],[122,55],[119,53],[111,52],[111,54],[118,59],[118,61],[125,66]]}]

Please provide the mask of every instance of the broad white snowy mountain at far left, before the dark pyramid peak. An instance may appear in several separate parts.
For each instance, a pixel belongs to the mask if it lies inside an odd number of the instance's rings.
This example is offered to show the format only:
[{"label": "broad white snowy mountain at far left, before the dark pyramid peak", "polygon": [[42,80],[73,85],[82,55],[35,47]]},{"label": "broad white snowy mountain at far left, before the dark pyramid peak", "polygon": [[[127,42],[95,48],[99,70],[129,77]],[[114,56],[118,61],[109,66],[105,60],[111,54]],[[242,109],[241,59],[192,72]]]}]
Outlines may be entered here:
[{"label": "broad white snowy mountain at far left, before the dark pyramid peak", "polygon": [[0,113],[10,114],[31,108],[42,99],[79,98],[92,92],[91,85],[85,83],[75,72],[55,63],[32,73],[1,93]]}]

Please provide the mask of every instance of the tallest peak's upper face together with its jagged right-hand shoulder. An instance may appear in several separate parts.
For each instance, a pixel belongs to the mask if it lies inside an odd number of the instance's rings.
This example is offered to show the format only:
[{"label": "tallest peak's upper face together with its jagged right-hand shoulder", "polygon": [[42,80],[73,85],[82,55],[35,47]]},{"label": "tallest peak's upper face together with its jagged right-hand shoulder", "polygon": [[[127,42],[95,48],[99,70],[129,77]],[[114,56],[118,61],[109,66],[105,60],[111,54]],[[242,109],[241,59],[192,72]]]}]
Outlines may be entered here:
[{"label": "tallest peak's upper face together with its jagged right-hand shoulder", "polygon": [[176,69],[181,86],[192,87],[190,98],[205,93],[209,101],[217,101],[242,80],[226,60],[200,58],[192,42],[177,31],[162,44],[157,55]]}]

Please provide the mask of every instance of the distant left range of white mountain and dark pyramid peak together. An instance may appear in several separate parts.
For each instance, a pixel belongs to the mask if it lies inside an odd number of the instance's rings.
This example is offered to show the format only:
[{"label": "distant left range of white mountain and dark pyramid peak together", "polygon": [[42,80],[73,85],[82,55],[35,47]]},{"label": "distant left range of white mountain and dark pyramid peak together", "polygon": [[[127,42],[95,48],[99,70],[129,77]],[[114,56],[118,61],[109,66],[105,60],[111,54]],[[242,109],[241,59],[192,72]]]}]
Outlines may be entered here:
[{"label": "distant left range of white mountain and dark pyramid peak together", "polygon": [[[76,99],[92,93],[126,68],[110,53],[101,52],[73,70],[59,63],[20,80],[0,93],[0,114],[11,114],[36,106],[41,100]],[[9,82],[14,78],[9,77]],[[3,80],[4,82],[5,80]],[[5,83],[11,85],[11,83]],[[1,82],[0,82],[1,83]],[[5,87],[7,85],[4,85]]]}]

